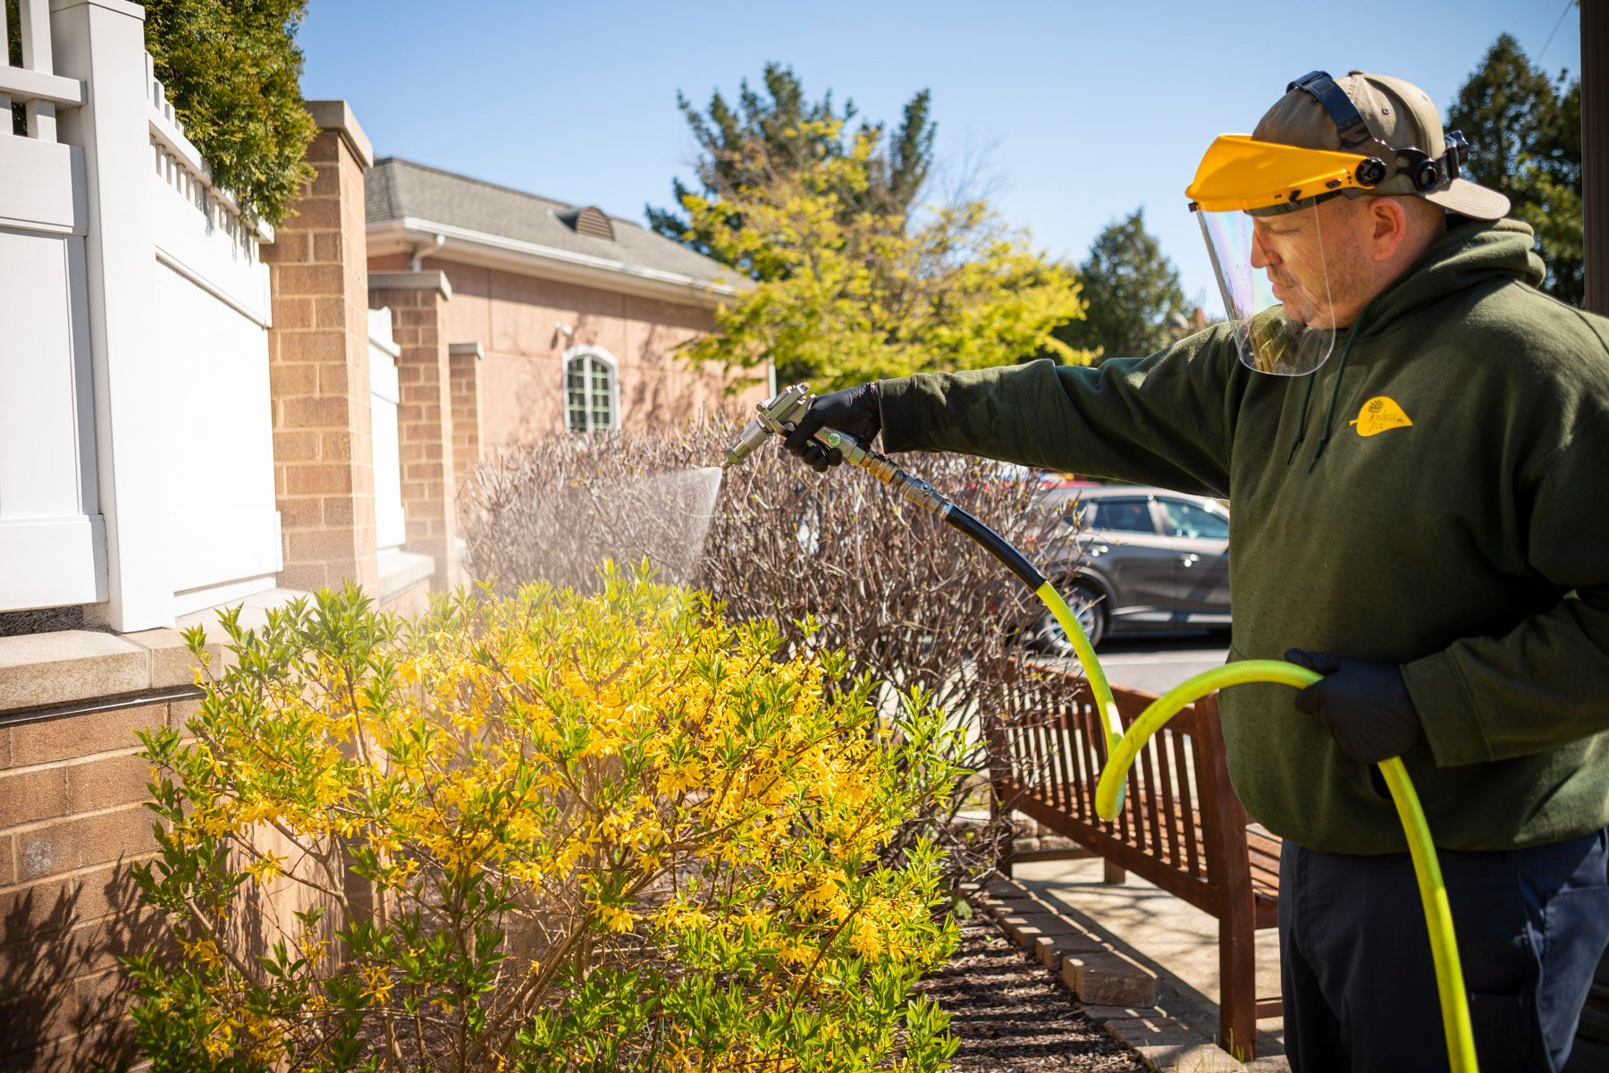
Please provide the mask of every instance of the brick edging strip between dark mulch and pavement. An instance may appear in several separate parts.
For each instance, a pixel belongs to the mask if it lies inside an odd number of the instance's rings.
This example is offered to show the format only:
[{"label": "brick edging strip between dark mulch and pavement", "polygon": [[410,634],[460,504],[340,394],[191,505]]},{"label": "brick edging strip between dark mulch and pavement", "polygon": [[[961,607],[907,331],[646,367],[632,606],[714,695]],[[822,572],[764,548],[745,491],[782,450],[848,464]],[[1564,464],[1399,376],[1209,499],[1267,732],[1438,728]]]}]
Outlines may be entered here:
[{"label": "brick edging strip between dark mulch and pavement", "polygon": [[1157,973],[1078,920],[1059,914],[1015,880],[962,883],[961,896],[993,919],[1118,1042],[1154,1070],[1244,1073],[1247,1067],[1184,1022],[1157,1007]]}]

